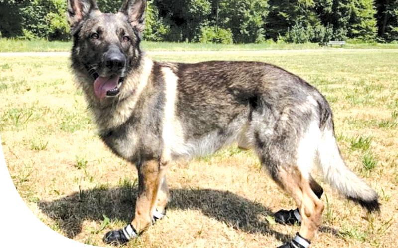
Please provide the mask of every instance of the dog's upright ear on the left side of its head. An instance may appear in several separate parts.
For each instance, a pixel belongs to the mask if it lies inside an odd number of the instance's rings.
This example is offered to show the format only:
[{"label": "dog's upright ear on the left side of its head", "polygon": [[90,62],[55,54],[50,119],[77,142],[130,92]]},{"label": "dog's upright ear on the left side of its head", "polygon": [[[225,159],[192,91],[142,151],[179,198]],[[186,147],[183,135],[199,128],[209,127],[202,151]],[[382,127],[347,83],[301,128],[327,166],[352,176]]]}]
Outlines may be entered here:
[{"label": "dog's upright ear on the left side of its head", "polygon": [[68,22],[72,32],[93,10],[99,10],[96,0],[68,0]]}]

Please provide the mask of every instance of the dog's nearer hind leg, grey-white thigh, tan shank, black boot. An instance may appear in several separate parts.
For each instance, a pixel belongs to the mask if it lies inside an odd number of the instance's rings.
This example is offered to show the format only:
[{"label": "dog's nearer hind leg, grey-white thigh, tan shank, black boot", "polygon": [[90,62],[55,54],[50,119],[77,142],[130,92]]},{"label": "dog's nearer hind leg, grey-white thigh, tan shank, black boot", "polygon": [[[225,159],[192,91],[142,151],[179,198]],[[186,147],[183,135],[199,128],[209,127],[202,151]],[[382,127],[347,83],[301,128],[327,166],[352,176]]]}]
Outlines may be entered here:
[{"label": "dog's nearer hind leg, grey-white thigh, tan shank, black boot", "polygon": [[302,119],[299,119],[301,123],[295,124],[295,119],[289,115],[276,115],[275,119],[272,115],[267,117],[253,119],[254,148],[273,180],[293,197],[301,217],[296,237],[280,248],[308,248],[321,224],[324,208],[317,196],[322,190],[310,177],[316,162],[319,127]]}]

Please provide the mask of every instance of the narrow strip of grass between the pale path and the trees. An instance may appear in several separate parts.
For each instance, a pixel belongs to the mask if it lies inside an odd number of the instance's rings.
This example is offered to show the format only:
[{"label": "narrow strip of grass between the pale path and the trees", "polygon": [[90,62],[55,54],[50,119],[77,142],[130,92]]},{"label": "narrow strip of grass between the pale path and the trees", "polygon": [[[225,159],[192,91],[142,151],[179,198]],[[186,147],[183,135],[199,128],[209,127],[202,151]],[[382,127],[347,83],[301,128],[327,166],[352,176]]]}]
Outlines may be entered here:
[{"label": "narrow strip of grass between the pale path and the trees", "polygon": [[[47,40],[13,40],[0,39],[0,52],[65,52],[70,51],[72,42]],[[142,42],[145,51],[248,51],[248,50],[302,50],[302,49],[331,49],[320,47],[316,43],[262,43],[262,44],[201,44],[201,43],[173,43],[173,42]],[[332,49],[339,48],[334,47]],[[380,43],[347,43],[345,49],[398,49],[398,44]]]}]

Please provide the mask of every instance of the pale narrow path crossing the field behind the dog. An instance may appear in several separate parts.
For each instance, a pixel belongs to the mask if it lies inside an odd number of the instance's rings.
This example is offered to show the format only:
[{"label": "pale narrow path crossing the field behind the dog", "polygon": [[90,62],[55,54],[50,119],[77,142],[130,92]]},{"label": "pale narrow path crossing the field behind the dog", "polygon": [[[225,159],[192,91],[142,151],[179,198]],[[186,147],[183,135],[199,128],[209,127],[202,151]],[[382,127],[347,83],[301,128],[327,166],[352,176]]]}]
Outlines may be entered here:
[{"label": "pale narrow path crossing the field behind the dog", "polygon": [[[327,53],[327,52],[398,52],[398,49],[302,49],[302,50],[257,50],[257,51],[152,51],[148,55],[246,55],[261,56],[266,54],[288,53]],[[70,52],[0,52],[0,57],[69,57]]]}]

